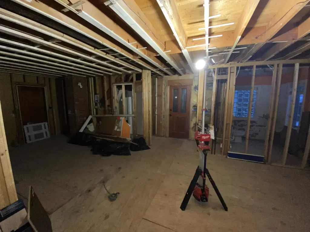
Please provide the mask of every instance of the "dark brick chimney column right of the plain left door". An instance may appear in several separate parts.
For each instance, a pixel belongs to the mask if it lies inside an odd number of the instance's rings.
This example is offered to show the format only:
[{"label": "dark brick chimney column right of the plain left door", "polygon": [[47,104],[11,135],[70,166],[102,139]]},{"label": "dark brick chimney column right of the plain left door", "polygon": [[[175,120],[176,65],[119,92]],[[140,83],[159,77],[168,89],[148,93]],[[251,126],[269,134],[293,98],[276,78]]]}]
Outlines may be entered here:
[{"label": "dark brick chimney column right of the plain left door", "polygon": [[[78,83],[81,83],[82,88]],[[69,76],[65,80],[65,84],[69,115],[69,131],[70,135],[74,135],[82,127],[90,114],[87,78]]]}]

